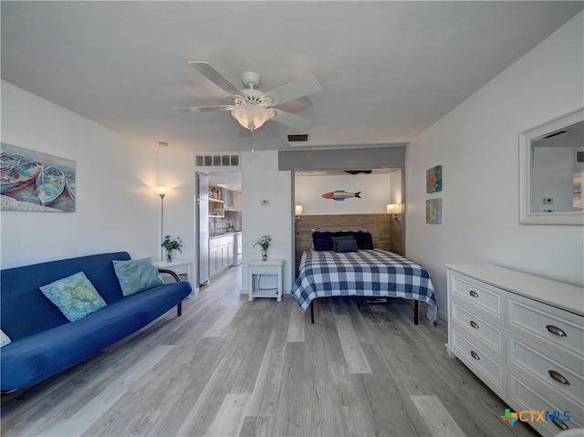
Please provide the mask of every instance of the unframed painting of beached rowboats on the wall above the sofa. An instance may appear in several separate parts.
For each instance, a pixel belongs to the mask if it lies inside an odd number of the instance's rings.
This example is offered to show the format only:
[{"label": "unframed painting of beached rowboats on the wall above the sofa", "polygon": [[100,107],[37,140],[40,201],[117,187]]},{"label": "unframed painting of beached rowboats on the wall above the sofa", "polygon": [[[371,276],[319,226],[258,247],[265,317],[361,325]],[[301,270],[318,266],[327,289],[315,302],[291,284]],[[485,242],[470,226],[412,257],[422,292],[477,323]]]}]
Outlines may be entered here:
[{"label": "unframed painting of beached rowboats on the wall above the sofa", "polygon": [[75,212],[75,161],[0,143],[3,211]]}]

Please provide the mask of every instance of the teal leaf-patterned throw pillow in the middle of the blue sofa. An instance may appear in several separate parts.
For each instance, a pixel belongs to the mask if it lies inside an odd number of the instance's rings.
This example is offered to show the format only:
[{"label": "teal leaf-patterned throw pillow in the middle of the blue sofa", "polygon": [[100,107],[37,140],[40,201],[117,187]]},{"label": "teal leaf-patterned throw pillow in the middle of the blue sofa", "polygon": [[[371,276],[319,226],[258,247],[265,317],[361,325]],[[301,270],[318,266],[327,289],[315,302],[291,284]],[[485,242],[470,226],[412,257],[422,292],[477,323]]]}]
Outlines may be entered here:
[{"label": "teal leaf-patterned throw pillow in the middle of the blue sofa", "polygon": [[41,286],[40,291],[71,322],[106,307],[106,302],[83,272]]}]

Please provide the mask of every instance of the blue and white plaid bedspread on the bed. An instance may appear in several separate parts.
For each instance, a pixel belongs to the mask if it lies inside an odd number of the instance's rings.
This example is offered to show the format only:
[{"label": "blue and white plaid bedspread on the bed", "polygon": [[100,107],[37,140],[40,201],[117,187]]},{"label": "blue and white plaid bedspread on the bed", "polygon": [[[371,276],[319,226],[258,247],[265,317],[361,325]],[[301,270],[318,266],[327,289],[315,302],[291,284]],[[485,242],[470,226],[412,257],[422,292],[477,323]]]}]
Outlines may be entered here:
[{"label": "blue and white plaid bedspread on the bed", "polygon": [[422,265],[380,249],[337,253],[307,250],[292,296],[305,312],[318,297],[403,297],[422,302],[433,325],[438,317],[432,280]]}]

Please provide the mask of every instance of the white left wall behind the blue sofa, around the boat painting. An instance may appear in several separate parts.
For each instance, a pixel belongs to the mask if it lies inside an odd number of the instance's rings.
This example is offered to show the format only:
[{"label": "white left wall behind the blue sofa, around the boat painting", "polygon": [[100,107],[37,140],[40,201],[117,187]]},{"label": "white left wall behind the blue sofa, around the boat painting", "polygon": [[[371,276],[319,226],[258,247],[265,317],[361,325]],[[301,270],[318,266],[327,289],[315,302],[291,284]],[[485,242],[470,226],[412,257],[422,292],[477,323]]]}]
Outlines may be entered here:
[{"label": "white left wall behind the blue sofa, around the boat painting", "polygon": [[77,164],[75,213],[0,212],[2,268],[121,250],[160,254],[154,153],[5,81],[1,140]]}]

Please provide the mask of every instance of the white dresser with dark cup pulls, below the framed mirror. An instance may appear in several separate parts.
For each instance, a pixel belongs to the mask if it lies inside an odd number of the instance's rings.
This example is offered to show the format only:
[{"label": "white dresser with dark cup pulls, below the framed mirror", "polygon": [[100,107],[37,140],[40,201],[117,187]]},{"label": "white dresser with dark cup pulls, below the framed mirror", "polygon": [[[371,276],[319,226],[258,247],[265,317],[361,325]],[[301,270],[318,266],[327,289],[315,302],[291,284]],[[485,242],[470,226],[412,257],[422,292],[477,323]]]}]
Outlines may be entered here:
[{"label": "white dresser with dark cup pulls, below the framed mirror", "polygon": [[445,266],[449,355],[540,434],[584,428],[584,288],[496,265]]}]

